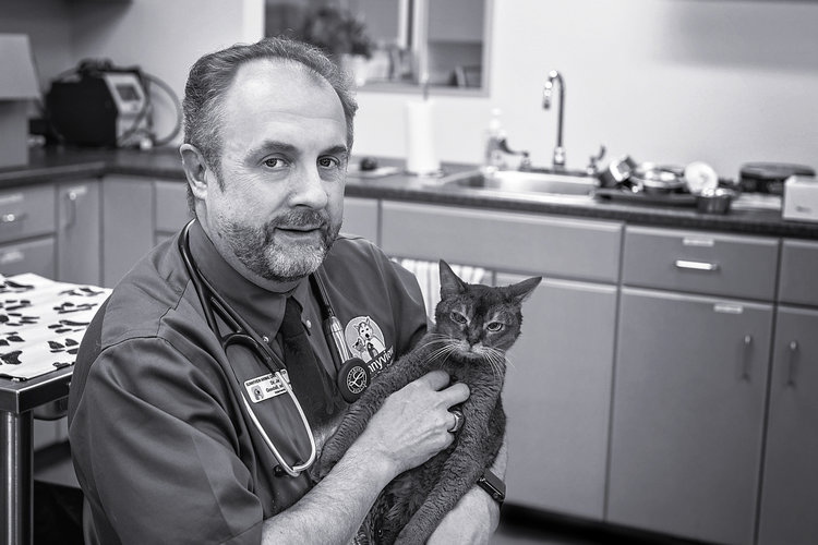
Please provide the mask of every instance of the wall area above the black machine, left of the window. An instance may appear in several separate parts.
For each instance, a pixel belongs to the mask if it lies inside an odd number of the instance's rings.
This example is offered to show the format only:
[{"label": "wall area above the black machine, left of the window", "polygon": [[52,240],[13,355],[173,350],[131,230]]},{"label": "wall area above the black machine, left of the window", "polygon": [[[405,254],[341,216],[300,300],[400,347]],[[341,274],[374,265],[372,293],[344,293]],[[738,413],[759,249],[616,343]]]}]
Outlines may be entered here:
[{"label": "wall area above the black machine, left of the window", "polygon": [[[140,65],[181,99],[188,70],[199,57],[262,37],[264,1],[2,0],[0,32],[29,35],[44,92],[80,60],[107,58],[117,65]],[[155,97],[155,129],[164,136],[173,126],[175,109],[167,95]]]}]

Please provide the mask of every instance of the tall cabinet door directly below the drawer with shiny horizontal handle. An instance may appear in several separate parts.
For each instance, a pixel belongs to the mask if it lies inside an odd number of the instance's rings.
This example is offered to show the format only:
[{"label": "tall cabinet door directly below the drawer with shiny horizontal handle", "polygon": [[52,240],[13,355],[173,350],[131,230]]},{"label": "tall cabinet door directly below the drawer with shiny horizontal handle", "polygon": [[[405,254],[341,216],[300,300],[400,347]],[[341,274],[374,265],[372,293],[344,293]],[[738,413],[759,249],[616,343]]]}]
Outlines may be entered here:
[{"label": "tall cabinet door directly below the drawer with shiny horizontal handle", "polygon": [[608,519],[753,541],[772,307],[623,289]]}]

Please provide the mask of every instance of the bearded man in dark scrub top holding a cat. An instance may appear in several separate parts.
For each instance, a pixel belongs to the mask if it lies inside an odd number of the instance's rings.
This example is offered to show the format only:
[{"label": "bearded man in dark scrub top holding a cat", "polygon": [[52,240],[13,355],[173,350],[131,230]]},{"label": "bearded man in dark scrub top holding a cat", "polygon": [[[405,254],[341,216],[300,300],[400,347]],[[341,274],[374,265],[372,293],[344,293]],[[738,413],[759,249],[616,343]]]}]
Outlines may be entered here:
[{"label": "bearded man in dark scrub top holding a cat", "polygon": [[[312,272],[321,267],[349,346],[362,320],[380,334],[373,367],[422,335],[411,276],[366,241],[338,235],[356,108],[335,66],[298,43],[234,46],[194,64],[180,152],[196,221],[115,289],[83,340],[71,386],[89,545],[348,543],[393,477],[454,440],[448,409],[468,388],[435,372],[387,399],[323,481],[287,474],[282,465],[310,451],[294,405],[263,358],[222,343],[237,329],[229,307],[273,360],[285,360],[317,435],[344,403]],[[207,307],[216,308],[209,322]],[[309,360],[287,358],[281,330],[292,312],[318,375]],[[488,543],[497,517],[474,487],[430,543]]]}]

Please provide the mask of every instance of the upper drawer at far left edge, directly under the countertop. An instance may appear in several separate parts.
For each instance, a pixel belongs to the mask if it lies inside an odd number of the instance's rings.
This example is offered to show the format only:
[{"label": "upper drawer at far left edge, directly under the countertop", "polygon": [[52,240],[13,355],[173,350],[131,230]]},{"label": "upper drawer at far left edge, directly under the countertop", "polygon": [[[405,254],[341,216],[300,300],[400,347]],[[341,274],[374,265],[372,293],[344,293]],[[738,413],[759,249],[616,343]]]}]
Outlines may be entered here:
[{"label": "upper drawer at far left edge, directly under the countertop", "polygon": [[0,242],[55,231],[53,185],[0,192]]}]

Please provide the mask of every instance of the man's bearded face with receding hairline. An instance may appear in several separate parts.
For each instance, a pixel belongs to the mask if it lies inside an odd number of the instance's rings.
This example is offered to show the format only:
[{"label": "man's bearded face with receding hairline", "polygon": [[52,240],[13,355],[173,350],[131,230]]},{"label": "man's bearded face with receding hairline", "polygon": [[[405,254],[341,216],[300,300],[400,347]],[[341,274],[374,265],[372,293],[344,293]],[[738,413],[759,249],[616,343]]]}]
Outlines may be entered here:
[{"label": "man's bearded face with receding hairline", "polygon": [[224,191],[212,180],[200,214],[210,240],[262,279],[313,272],[344,216],[349,152],[340,99],[300,66],[253,61],[225,96],[219,134]]}]

